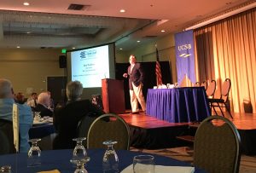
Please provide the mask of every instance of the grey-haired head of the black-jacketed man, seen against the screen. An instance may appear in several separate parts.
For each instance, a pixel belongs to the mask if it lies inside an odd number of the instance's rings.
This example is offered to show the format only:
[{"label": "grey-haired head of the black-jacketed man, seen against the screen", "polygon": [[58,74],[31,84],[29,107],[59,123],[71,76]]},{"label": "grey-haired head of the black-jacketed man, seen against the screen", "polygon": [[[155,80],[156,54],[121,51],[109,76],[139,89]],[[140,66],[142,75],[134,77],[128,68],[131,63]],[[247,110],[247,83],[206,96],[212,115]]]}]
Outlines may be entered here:
[{"label": "grey-haired head of the black-jacketed man, seen against the screen", "polygon": [[67,84],[66,94],[68,101],[78,101],[83,93],[83,84],[79,81],[70,81]]}]

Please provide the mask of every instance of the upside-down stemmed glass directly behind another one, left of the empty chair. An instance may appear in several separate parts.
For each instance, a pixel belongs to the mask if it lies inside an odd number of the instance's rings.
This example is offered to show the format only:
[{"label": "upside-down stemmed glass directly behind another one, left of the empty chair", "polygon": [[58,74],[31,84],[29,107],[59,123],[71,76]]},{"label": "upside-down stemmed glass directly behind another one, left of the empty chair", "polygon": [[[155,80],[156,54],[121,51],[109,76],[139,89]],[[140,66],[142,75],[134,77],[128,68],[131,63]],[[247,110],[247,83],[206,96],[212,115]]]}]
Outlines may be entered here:
[{"label": "upside-down stemmed glass directly behind another one, left of the empty chair", "polygon": [[84,157],[87,156],[86,149],[83,146],[84,140],[86,140],[86,137],[79,137],[73,139],[73,141],[77,141],[77,145],[73,149],[73,158],[84,159]]}]

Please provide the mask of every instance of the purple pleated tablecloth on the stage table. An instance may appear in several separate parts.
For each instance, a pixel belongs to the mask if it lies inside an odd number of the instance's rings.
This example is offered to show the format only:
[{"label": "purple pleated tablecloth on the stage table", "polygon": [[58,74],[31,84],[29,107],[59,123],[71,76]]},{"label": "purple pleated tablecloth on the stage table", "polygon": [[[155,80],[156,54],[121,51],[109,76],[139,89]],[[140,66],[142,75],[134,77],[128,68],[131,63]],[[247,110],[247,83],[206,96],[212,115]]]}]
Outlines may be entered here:
[{"label": "purple pleated tablecloth on the stage table", "polygon": [[203,87],[148,89],[147,114],[171,123],[202,121],[211,115]]}]

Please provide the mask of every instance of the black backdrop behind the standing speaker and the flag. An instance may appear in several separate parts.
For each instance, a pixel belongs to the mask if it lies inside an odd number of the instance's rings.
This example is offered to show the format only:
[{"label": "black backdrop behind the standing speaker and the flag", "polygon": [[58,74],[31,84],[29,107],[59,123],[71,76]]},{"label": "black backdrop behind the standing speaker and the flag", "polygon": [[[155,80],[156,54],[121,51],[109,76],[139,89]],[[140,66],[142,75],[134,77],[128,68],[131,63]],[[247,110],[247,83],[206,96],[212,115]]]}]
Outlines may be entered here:
[{"label": "black backdrop behind the standing speaker and the flag", "polygon": [[[153,89],[153,87],[156,85],[155,61],[141,62],[141,65],[145,72],[145,78],[143,82],[143,95],[145,99],[147,99],[148,89]],[[129,63],[116,63],[115,78],[119,80],[124,80],[125,108],[131,109],[128,79],[123,78],[123,74],[127,72],[128,66],[130,66]],[[169,61],[160,61],[160,66],[161,66],[163,84],[172,84],[172,74],[170,70]]]}]

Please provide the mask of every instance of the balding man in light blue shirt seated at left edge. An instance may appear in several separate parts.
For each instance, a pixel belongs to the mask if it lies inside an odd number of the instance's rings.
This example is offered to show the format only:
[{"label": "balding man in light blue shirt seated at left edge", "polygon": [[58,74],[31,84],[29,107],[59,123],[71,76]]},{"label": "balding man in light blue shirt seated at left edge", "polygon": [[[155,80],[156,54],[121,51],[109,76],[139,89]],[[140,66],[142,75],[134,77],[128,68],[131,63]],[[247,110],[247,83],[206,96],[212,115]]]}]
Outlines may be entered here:
[{"label": "balding man in light blue shirt seated at left edge", "polygon": [[[15,99],[11,82],[0,78],[0,118],[13,121],[14,103]],[[20,153],[26,153],[29,149],[28,130],[32,125],[32,110],[24,104],[17,105],[20,119]]]}]

